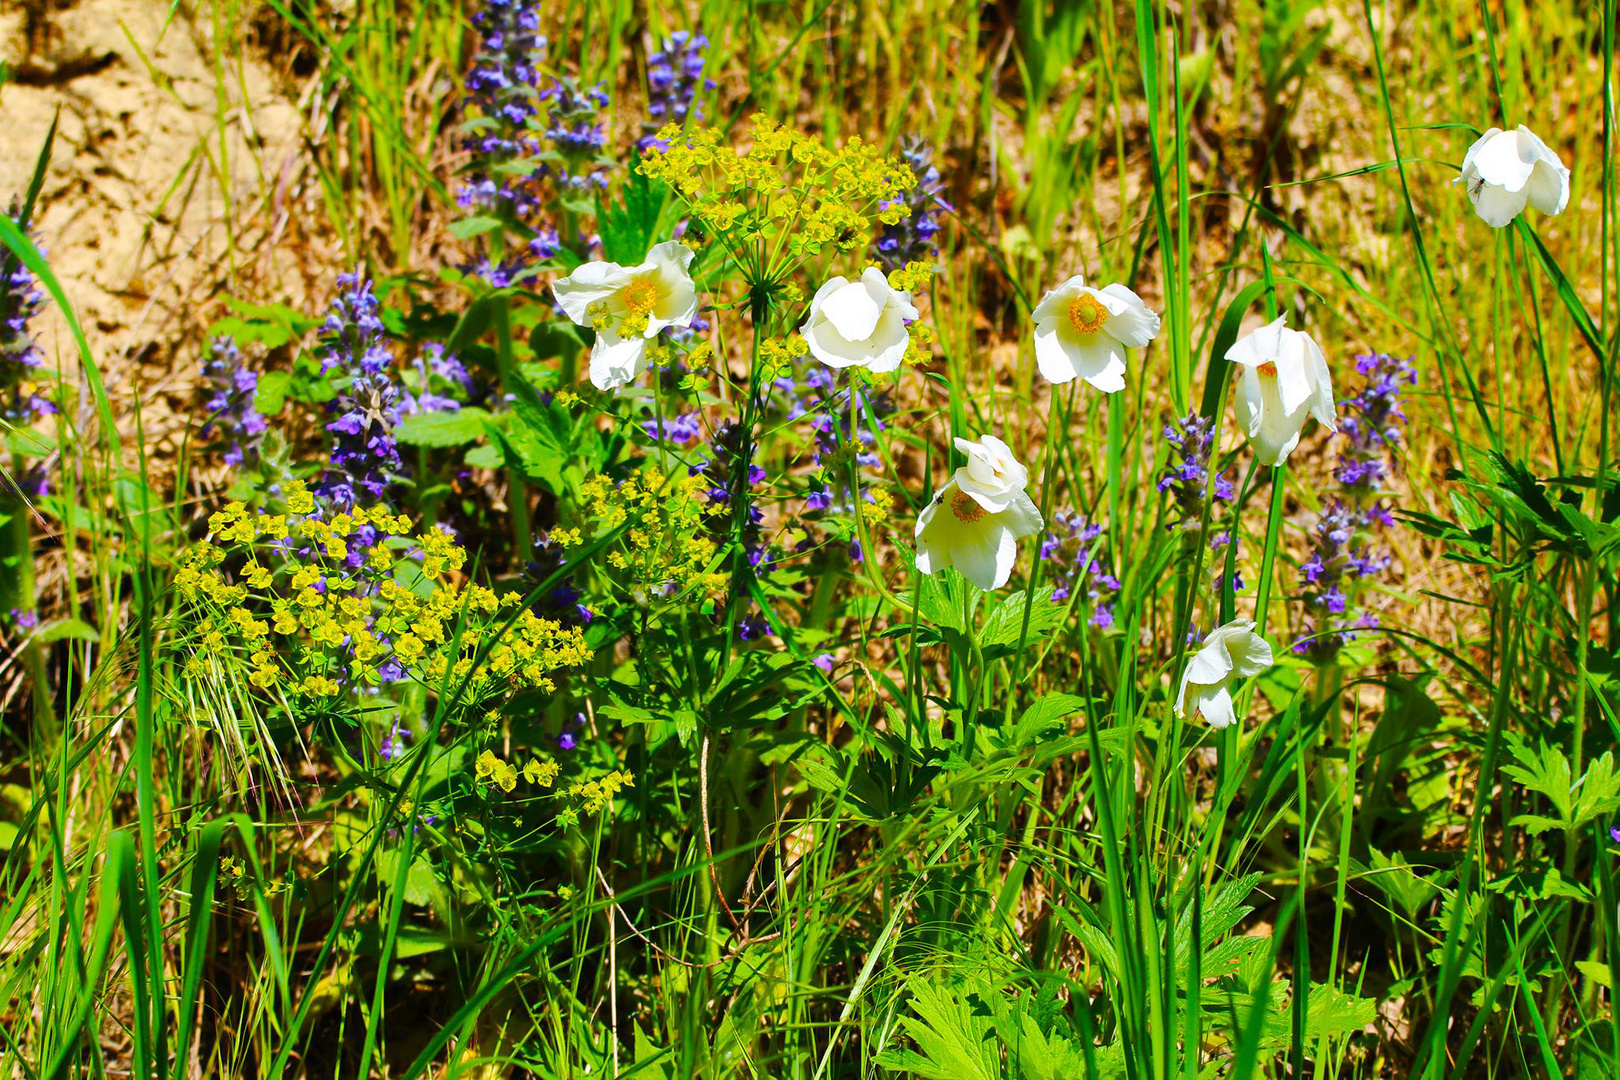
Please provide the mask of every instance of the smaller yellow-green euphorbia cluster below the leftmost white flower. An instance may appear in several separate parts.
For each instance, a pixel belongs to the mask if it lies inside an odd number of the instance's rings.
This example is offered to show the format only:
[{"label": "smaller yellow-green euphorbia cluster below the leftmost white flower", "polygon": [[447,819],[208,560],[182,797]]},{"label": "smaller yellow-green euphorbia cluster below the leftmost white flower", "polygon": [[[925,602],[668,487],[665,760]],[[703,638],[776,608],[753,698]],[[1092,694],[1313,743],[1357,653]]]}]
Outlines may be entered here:
[{"label": "smaller yellow-green euphorbia cluster below the leftmost white flower", "polygon": [[[705,529],[705,517],[713,510],[706,483],[703,476],[671,478],[656,466],[619,484],[601,474],[585,481],[580,500],[598,528],[629,526],[608,555],[620,581],[669,596],[690,589],[703,596],[726,591],[731,578],[723,570],[711,570],[719,549]],[[569,544],[578,542],[580,534],[556,529],[551,538]]]}]

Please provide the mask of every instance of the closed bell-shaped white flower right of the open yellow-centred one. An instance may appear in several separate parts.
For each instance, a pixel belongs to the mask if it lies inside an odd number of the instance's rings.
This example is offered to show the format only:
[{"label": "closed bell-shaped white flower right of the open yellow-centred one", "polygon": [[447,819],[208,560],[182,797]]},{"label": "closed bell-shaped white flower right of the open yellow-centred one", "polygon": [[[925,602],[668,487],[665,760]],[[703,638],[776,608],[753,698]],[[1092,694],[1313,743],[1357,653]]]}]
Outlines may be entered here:
[{"label": "closed bell-shaped white flower right of the open yellow-centred one", "polygon": [[1243,369],[1238,382],[1238,423],[1260,465],[1281,465],[1299,445],[1306,418],[1338,431],[1333,379],[1322,347],[1309,334],[1290,330],[1288,316],[1247,334],[1226,350]]}]

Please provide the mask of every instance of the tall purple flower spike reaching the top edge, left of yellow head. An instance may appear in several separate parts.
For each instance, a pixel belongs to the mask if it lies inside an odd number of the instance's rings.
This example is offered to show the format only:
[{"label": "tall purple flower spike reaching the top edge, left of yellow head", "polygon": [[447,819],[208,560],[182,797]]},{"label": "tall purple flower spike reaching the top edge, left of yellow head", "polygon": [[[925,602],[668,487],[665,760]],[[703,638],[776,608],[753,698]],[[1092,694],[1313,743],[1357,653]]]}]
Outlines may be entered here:
[{"label": "tall purple flower spike reaching the top edge, left of yellow head", "polygon": [[533,133],[539,117],[539,63],[546,53],[539,5],[484,0],[473,26],[480,47],[467,73],[467,104],[476,115],[467,121],[467,149],[478,164],[457,199],[463,209],[509,210],[510,217],[523,219],[535,209],[533,185],[522,170],[501,167],[539,151]]}]

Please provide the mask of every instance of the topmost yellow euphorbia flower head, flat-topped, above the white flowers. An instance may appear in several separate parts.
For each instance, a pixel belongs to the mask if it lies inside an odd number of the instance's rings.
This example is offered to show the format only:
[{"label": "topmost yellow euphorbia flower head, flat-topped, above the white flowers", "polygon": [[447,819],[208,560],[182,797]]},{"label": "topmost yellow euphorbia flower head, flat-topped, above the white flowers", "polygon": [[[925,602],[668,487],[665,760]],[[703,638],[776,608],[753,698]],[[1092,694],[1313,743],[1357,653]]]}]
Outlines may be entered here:
[{"label": "topmost yellow euphorbia flower head, flat-topped, above the white flowers", "polygon": [[896,157],[855,138],[842,147],[784,128],[758,113],[747,149],[721,144],[721,128],[658,133],[669,149],[651,149],[642,172],[667,183],[703,227],[731,246],[786,244],[795,257],[833,246],[857,251],[875,223],[909,214],[901,201],[917,176]]}]

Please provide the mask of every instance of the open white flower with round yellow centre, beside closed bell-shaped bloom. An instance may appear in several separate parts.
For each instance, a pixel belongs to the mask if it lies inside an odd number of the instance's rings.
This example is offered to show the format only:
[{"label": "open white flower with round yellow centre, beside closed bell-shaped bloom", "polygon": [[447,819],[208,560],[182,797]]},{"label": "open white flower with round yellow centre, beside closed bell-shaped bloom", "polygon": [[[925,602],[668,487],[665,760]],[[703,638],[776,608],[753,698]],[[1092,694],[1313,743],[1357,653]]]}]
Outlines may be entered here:
[{"label": "open white flower with round yellow centre, beside closed bell-shaped bloom", "polygon": [[1090,288],[1076,274],[1035,306],[1035,366],[1051,382],[1081,377],[1103,393],[1124,389],[1124,350],[1158,335],[1158,316],[1124,285]]}]

